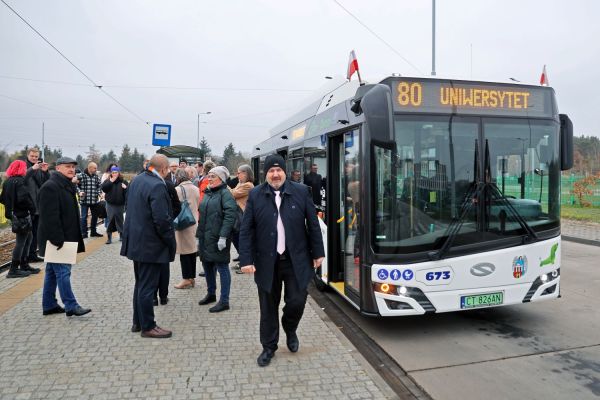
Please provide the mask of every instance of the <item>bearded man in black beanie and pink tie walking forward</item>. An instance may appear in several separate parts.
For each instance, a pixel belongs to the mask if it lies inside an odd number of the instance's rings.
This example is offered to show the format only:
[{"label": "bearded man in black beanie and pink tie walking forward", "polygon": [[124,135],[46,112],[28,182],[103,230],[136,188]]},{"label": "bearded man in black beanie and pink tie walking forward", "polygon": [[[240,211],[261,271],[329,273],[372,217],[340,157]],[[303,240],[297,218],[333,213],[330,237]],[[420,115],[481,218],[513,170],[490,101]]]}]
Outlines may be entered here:
[{"label": "bearded man in black beanie and pink tie walking forward", "polygon": [[254,273],[258,286],[263,351],[257,363],[261,367],[271,362],[277,350],[282,283],[285,307],[281,324],[287,347],[295,353],[308,283],[325,257],[308,187],[286,181],[285,161],[279,155],[266,158],[264,171],[266,182],[250,192],[240,230],[241,270]]}]

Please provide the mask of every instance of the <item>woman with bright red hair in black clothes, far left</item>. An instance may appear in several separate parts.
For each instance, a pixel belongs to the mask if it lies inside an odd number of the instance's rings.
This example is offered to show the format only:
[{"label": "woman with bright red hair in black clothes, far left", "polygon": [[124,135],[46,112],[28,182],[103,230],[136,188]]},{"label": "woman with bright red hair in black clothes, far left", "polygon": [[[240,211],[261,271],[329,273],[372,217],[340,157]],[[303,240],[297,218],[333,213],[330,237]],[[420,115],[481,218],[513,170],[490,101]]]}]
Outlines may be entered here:
[{"label": "woman with bright red hair in black clothes, far left", "polygon": [[17,235],[7,278],[23,278],[40,272],[38,268],[31,267],[27,262],[29,245],[33,240],[31,215],[35,213],[35,205],[25,186],[26,172],[25,161],[13,161],[6,170],[8,179],[4,182],[0,193],[0,203],[4,204],[5,216],[11,220],[12,231]]}]

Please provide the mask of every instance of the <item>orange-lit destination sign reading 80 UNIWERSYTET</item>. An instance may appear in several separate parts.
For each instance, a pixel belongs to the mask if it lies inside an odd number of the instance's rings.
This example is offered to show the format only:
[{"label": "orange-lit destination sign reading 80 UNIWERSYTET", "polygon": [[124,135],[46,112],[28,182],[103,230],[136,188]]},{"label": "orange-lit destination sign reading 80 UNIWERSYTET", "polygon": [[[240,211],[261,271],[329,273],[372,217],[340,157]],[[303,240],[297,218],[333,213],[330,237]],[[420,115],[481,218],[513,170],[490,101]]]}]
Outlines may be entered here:
[{"label": "orange-lit destination sign reading 80 UNIWERSYTET", "polygon": [[553,117],[553,91],[463,81],[390,80],[395,111]]}]

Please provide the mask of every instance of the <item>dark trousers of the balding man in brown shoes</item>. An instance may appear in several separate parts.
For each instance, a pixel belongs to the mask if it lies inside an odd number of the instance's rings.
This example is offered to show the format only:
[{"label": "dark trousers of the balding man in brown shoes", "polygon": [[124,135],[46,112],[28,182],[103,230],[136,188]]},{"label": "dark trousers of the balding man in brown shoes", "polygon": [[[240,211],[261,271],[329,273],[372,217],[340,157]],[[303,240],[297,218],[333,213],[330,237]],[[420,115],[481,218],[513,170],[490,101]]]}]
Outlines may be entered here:
[{"label": "dark trousers of the balding man in brown shoes", "polygon": [[158,286],[160,271],[166,264],[133,262],[135,273],[135,286],[133,288],[133,324],[138,325],[143,331],[154,329],[154,293]]}]

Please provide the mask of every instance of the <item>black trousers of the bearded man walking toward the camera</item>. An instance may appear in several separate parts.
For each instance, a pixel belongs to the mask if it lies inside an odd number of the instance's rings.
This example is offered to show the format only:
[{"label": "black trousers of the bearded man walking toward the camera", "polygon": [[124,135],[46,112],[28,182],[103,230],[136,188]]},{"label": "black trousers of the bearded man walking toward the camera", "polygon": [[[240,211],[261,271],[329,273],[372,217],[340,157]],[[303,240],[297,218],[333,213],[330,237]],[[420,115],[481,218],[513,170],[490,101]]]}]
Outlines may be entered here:
[{"label": "black trousers of the bearded man walking toward the camera", "polygon": [[277,262],[270,293],[258,288],[260,343],[263,348],[273,351],[277,350],[277,342],[279,342],[279,303],[282,283],[285,286],[283,294],[285,306],[283,307],[281,326],[286,333],[296,332],[308,295],[306,288],[300,289],[298,286],[298,280],[289,259]]}]

